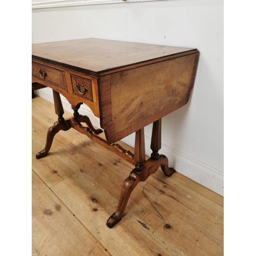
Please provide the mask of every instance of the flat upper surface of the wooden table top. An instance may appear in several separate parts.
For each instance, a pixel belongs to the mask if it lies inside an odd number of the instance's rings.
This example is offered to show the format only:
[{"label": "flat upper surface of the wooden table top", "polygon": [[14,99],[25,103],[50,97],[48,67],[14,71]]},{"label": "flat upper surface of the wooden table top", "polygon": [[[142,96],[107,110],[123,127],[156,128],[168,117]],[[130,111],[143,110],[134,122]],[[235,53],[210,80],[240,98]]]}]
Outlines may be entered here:
[{"label": "flat upper surface of the wooden table top", "polygon": [[139,44],[97,38],[32,45],[32,57],[101,73],[189,51],[194,48]]}]

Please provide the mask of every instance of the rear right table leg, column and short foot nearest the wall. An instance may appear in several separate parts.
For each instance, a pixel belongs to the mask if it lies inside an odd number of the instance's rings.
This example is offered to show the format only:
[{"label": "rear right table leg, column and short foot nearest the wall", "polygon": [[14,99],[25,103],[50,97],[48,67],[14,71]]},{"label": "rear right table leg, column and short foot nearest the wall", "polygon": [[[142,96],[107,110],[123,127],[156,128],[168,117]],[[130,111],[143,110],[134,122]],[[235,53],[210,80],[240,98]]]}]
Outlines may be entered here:
[{"label": "rear right table leg, column and short foot nearest the wall", "polygon": [[164,175],[170,177],[172,174],[175,173],[174,168],[169,168],[168,166],[168,158],[164,155],[159,155],[158,151],[161,149],[161,133],[162,133],[162,119],[155,121],[153,123],[153,130],[152,130],[152,137],[151,137],[151,146],[152,159],[159,159],[159,157],[163,157],[162,163],[161,163],[161,169],[164,173]]}]

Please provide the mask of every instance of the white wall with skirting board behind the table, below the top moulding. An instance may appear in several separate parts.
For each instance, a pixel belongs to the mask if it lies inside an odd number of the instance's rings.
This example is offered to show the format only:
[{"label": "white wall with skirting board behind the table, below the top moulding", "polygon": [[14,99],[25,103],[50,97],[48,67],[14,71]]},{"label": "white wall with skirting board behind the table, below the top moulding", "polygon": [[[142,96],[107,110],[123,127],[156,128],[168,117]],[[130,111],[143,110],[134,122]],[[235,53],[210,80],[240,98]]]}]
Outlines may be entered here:
[{"label": "white wall with skirting board behind the table, below the top moulding", "polygon": [[[32,10],[33,44],[88,37],[200,51],[189,102],[162,119],[160,153],[169,158],[169,166],[223,195],[223,1],[166,0]],[[38,91],[47,99],[52,99],[50,93],[49,89]],[[92,117],[85,107],[82,111]],[[151,154],[151,132],[152,125],[145,127],[147,155]],[[134,135],[123,141],[133,145]]]}]

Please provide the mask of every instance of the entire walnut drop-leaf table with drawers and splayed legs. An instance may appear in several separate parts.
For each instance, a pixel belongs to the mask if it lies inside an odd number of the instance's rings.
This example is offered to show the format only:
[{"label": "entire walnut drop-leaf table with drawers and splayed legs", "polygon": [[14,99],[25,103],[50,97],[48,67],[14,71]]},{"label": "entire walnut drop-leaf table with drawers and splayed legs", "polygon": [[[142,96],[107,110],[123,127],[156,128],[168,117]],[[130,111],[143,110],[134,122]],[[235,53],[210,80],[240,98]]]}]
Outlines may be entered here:
[{"label": "entire walnut drop-leaf table with drawers and splayed legs", "polygon": [[[174,168],[159,155],[161,118],[185,105],[195,81],[197,49],[136,44],[103,39],[78,39],[32,45],[32,90],[53,89],[58,121],[48,130],[46,146],[36,158],[47,156],[53,137],[71,127],[115,152],[135,167],[122,184],[119,204],[106,225],[112,228],[124,214],[138,182],[145,181],[159,166],[171,176]],[[62,94],[74,110],[64,119]],[[106,140],[97,136],[80,105],[89,106]],[[145,161],[144,126],[153,122],[151,158]],[[86,123],[87,126],[83,126]],[[135,152],[124,150],[118,140],[136,132]]]}]

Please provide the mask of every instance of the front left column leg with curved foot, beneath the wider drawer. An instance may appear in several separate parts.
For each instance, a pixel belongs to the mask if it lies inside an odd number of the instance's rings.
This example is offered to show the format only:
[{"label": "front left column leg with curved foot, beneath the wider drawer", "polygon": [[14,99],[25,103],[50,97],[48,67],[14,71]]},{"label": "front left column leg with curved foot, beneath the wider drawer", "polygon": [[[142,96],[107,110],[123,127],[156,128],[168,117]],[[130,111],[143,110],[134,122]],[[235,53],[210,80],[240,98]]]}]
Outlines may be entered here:
[{"label": "front left column leg with curved foot, beneath the wider drawer", "polygon": [[37,159],[48,155],[52,145],[53,138],[56,133],[58,133],[60,130],[67,131],[71,127],[69,125],[69,122],[66,122],[65,119],[62,117],[64,114],[64,111],[63,111],[61,99],[60,99],[59,93],[54,90],[53,90],[53,99],[54,99],[55,113],[58,115],[58,121],[55,122],[54,125],[49,128],[47,133],[45,148],[44,150],[36,154]]}]

